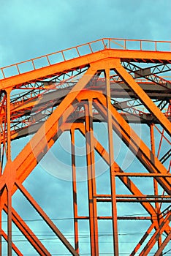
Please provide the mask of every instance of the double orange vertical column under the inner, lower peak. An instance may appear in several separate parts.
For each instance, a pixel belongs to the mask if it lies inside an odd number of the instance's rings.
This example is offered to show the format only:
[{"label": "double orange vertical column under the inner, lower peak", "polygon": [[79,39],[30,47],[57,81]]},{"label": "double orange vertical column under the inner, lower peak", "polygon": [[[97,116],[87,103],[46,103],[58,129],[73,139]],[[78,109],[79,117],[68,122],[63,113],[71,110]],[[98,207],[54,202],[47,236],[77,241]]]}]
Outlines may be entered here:
[{"label": "double orange vertical column under the inner, lower peak", "polygon": [[96,181],[94,161],[94,136],[93,136],[93,113],[92,99],[85,105],[86,112],[86,157],[88,173],[88,201],[89,223],[91,237],[91,255],[99,255],[98,222],[96,210]]}]

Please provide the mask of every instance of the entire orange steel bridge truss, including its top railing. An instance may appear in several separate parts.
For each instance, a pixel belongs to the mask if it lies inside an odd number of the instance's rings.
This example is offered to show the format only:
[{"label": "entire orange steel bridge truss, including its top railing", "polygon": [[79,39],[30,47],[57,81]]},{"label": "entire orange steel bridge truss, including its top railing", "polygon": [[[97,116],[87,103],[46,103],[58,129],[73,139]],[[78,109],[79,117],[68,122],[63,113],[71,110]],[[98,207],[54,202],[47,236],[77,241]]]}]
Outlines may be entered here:
[{"label": "entire orange steel bridge truss, including its top railing", "polygon": [[[39,255],[53,255],[12,206],[12,198],[18,191],[61,240],[68,255],[83,253],[80,246],[80,223],[83,221],[88,223],[89,230],[87,255],[142,256],[153,253],[159,256],[169,252],[170,45],[171,42],[164,41],[105,38],[0,69],[1,214],[7,214],[7,233],[1,222],[1,255],[4,240],[7,241],[8,255],[26,253],[13,241],[13,225]],[[104,124],[107,129],[107,146],[94,132],[94,127],[99,124]],[[141,135],[135,127],[142,127]],[[73,242],[23,185],[47,151],[66,132],[70,135],[67,143],[72,162]],[[75,149],[78,133],[84,138],[86,148],[85,195],[88,194],[88,201],[87,197],[84,200],[88,214],[85,215],[78,211],[77,176],[80,173]],[[12,141],[28,135],[29,142],[17,157],[12,157]],[[120,149],[115,135],[121,140]],[[125,148],[134,156],[128,168],[122,167],[121,159],[115,157],[120,150],[124,159]],[[99,177],[96,154],[107,166],[104,174],[110,184],[108,194],[103,192],[104,183],[98,191],[96,188]],[[134,165],[134,161],[140,166]],[[125,190],[118,193],[121,184]],[[99,214],[102,205],[111,208],[109,215]],[[145,214],[134,214],[135,205]],[[120,206],[122,211],[118,210]],[[128,206],[129,214],[124,212],[124,206]],[[102,222],[111,224],[110,251],[107,251],[110,246],[105,247],[105,243],[102,251],[99,232]],[[134,223],[132,232],[135,232],[134,227],[136,232],[139,230],[140,236],[134,236],[133,244],[127,237],[127,244],[123,246],[120,223]],[[146,230],[142,228],[143,223]]]}]

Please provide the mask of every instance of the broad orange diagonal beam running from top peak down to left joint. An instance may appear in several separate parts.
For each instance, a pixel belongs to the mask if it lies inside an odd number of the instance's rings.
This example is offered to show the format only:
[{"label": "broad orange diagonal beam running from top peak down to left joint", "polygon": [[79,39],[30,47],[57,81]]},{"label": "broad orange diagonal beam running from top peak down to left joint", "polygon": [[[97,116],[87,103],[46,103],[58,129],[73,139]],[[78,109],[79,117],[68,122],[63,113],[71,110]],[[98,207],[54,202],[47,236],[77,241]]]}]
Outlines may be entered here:
[{"label": "broad orange diagonal beam running from top peak down to left joint", "polygon": [[5,168],[3,175],[0,177],[0,189],[4,187],[10,169],[12,169],[13,172],[16,171],[16,177],[22,182],[31,173],[31,171],[34,170],[34,167],[36,167],[40,159],[42,159],[55,142],[57,130],[58,133],[60,133],[60,125],[58,125],[59,119],[63,115],[61,120],[62,124],[69,114],[72,113],[72,110],[74,109],[71,105],[72,102],[77,97],[77,94],[79,94],[79,91],[86,86],[95,73],[96,69],[92,70],[89,68],[87,70],[85,75],[83,75],[83,77],[77,82],[72,91],[66,95],[61,104],[58,105],[58,108],[56,108],[53,114],[47,119],[47,121],[45,121],[42,127],[40,127],[25,148],[20,151],[20,154],[18,154],[11,165],[8,165],[8,167]]}]

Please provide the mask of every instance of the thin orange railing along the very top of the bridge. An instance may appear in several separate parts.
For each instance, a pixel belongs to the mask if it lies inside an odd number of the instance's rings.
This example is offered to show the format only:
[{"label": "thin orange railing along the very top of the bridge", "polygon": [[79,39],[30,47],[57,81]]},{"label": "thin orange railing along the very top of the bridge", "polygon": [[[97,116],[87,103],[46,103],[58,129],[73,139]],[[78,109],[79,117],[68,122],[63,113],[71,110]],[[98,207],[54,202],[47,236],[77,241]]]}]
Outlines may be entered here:
[{"label": "thin orange railing along the very top of the bridge", "polygon": [[170,51],[171,42],[103,38],[0,68],[0,80],[104,49]]}]

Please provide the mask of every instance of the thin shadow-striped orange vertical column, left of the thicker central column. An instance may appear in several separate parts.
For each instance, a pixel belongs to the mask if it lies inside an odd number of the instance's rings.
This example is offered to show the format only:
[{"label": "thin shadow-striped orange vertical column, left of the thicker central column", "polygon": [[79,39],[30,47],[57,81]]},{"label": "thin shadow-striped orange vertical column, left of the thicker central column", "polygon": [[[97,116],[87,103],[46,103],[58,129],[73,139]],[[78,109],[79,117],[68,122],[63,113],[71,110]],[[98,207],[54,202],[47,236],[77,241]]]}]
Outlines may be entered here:
[{"label": "thin shadow-striped orange vertical column, left of the thicker central column", "polygon": [[72,149],[72,191],[73,191],[73,210],[74,210],[74,226],[75,226],[75,251],[79,253],[78,244],[78,220],[77,220],[77,181],[75,167],[75,129],[71,131],[71,149]]}]

